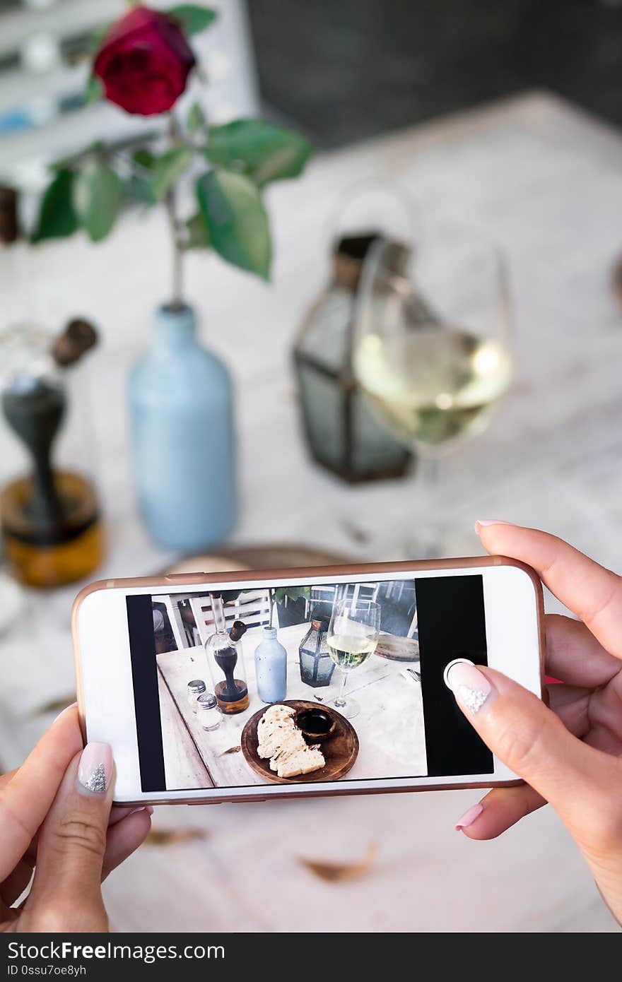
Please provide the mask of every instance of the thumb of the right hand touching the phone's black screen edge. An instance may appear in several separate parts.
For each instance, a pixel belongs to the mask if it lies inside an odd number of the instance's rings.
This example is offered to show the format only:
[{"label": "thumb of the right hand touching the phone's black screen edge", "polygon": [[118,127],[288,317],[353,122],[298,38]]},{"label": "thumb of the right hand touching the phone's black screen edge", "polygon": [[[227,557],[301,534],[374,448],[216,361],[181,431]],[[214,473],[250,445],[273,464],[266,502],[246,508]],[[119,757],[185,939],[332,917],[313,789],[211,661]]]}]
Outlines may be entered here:
[{"label": "thumb of the right hand touching the phone's black screen edge", "polygon": [[569,733],[533,692],[500,672],[458,662],[447,682],[484,743],[550,801],[575,838],[585,842],[603,828],[612,806],[613,757]]}]

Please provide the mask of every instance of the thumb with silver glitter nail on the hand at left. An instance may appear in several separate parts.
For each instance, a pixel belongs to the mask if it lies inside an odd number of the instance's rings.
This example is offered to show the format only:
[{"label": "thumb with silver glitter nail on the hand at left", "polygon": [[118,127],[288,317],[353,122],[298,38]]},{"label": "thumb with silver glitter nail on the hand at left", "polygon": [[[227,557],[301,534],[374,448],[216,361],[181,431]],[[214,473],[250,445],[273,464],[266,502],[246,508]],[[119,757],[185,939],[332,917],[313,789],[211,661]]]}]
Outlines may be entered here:
[{"label": "thumb with silver glitter nail on the hand at left", "polygon": [[109,745],[87,743],[65,773],[39,834],[26,908],[36,920],[36,930],[108,930],[101,866],[113,770]]}]

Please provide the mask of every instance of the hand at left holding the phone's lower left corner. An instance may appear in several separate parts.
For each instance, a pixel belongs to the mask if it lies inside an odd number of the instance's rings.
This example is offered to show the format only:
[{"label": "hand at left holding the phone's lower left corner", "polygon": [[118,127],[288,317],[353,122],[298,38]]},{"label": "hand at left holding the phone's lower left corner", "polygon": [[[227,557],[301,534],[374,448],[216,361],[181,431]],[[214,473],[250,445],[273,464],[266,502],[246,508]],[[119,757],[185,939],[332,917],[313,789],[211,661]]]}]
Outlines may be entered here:
[{"label": "hand at left holding the phone's lower left corner", "polygon": [[[101,881],[145,838],[152,808],[113,808],[107,743],[83,738],[75,707],[0,777],[0,929],[107,931]],[[28,899],[13,904],[34,879]]]}]

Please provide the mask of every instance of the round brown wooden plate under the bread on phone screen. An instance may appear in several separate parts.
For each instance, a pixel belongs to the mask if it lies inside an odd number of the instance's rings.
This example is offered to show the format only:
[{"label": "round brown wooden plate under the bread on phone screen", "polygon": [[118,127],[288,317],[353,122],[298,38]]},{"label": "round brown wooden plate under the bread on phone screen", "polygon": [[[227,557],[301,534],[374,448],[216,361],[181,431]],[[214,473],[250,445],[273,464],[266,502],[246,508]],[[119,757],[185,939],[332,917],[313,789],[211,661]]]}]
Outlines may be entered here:
[{"label": "round brown wooden plate under the bread on phone screen", "polygon": [[270,761],[263,760],[257,754],[257,725],[268,706],[263,706],[248,721],[240,743],[242,752],[254,773],[275,785],[305,785],[314,781],[338,781],[347,774],[359,753],[359,737],[351,723],[330,706],[319,702],[307,702],[305,699],[283,699],[279,705],[291,706],[292,709],[322,709],[335,721],[335,731],[332,736],[319,744],[326,763],[318,771],[311,774],[298,774],[295,778],[279,778],[275,771],[270,770]]}]

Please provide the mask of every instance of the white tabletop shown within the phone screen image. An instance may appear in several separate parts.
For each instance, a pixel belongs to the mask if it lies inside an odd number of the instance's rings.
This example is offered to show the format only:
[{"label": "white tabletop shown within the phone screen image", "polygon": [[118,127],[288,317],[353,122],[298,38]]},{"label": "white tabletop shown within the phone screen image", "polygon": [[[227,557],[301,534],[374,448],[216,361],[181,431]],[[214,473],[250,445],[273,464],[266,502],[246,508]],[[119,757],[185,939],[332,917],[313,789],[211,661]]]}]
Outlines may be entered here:
[{"label": "white tabletop shown within the phone screen image", "polygon": [[[278,639],[287,651],[288,699],[308,699],[311,702],[326,698],[329,691],[324,686],[312,687],[301,680],[299,646],[311,627],[310,623],[280,627]],[[157,655],[161,675],[172,699],[160,698],[162,734],[164,735],[164,770],[167,788],[232,788],[265,784],[245,760],[242,752],[224,751],[239,746],[244,727],[258,709],[267,706],[257,693],[254,672],[254,649],[261,640],[260,627],[252,627],[242,638],[243,657],[249,687],[249,708],[243,713],[223,716],[217,730],[205,732],[196,713],[188,702],[188,682],[205,678],[205,653],[202,647],[185,648]],[[193,659],[191,661],[191,659]],[[410,664],[410,663],[408,663]],[[357,781],[363,778],[401,778],[427,773],[425,761],[424,706],[422,687],[405,675],[407,663],[388,661],[372,655],[371,658],[349,673],[346,701],[352,696],[359,703],[360,713],[352,721],[359,737],[357,759],[343,780]],[[419,665],[416,665],[419,668]],[[331,688],[341,683],[339,669],[333,672]],[[160,687],[160,693],[161,693]],[[179,714],[187,727],[180,736]],[[168,736],[168,735],[171,736]],[[192,736],[191,736],[192,735]],[[167,738],[168,736],[168,738]],[[180,754],[179,739],[186,744]],[[198,748],[193,783],[188,785],[185,761]],[[321,749],[321,747],[320,747]],[[181,761],[180,761],[181,757]],[[205,768],[208,781],[205,783]]]}]

